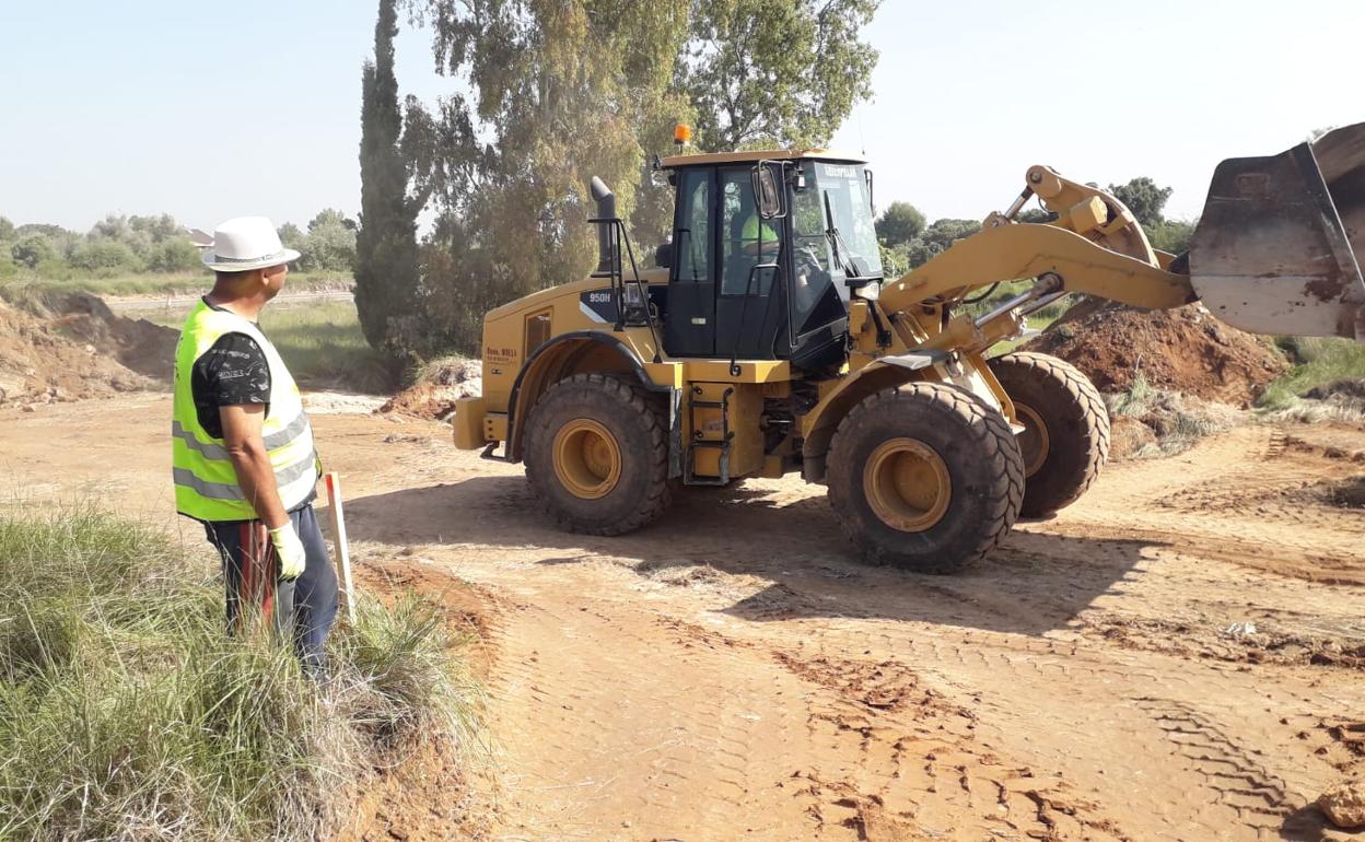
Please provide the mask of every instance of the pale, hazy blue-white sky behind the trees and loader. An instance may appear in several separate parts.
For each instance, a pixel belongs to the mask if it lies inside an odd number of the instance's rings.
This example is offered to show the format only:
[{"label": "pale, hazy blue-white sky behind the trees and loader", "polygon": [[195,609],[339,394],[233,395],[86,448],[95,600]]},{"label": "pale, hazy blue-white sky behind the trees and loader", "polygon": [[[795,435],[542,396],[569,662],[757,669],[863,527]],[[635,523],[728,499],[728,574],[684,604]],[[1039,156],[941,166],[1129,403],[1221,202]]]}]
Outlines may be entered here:
[{"label": "pale, hazy blue-white sky behind the trees and loader", "polygon": [[[0,0],[0,216],[354,216],[375,8]],[[1151,176],[1188,218],[1222,158],[1365,120],[1362,31],[1361,0],[885,0],[874,98],[831,147],[872,160],[878,205],[931,220],[1003,210],[1032,164]],[[400,87],[453,90],[431,68],[430,33],[404,27]]]}]

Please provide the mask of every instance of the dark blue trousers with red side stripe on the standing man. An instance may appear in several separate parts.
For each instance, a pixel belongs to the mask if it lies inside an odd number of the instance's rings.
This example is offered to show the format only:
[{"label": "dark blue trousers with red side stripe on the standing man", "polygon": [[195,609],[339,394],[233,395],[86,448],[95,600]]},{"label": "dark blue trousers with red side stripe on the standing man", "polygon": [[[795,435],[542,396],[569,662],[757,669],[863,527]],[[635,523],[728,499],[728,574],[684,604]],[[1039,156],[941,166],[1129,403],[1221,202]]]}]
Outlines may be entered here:
[{"label": "dark blue trousers with red side stripe on the standing man", "polygon": [[289,520],[303,542],[306,557],[303,575],[292,581],[292,613],[287,605],[288,583],[278,580],[280,560],[263,523],[206,523],[203,531],[222,557],[228,632],[240,630],[248,615],[259,613],[266,622],[274,622],[277,629],[292,637],[304,670],[315,674],[322,666],[322,644],[337,615],[337,575],[313,506],[289,512]]}]

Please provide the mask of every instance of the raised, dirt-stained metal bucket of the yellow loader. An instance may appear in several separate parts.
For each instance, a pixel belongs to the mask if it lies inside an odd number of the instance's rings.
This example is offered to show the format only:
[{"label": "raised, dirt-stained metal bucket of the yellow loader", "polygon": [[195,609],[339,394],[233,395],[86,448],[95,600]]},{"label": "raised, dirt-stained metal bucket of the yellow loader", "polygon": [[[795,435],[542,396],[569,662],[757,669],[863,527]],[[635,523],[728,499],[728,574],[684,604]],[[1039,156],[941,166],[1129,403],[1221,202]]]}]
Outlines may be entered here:
[{"label": "raised, dirt-stained metal bucket of the yellow loader", "polygon": [[1365,341],[1365,123],[1213,171],[1190,282],[1253,333]]}]

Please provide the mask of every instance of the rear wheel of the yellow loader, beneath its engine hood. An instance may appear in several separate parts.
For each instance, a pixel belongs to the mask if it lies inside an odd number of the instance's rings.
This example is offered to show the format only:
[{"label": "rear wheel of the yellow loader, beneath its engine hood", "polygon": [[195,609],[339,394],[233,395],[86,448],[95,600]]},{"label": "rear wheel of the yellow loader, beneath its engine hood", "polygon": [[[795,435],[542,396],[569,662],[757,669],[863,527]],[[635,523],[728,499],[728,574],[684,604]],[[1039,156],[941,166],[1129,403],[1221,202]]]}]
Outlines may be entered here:
[{"label": "rear wheel of the yellow loader, beneath its engine hood", "polygon": [[576,374],[541,396],[527,419],[531,491],[571,532],[622,535],[669,505],[667,415],[637,382]]}]

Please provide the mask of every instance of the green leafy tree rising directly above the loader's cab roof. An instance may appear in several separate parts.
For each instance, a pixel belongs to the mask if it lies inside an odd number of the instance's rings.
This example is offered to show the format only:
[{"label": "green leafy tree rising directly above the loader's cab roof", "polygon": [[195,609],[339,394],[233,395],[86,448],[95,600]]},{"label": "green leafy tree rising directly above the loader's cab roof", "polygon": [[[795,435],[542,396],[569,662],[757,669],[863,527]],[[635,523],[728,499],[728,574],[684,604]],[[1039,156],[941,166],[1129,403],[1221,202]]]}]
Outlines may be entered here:
[{"label": "green leafy tree rising directly above the loader's cab roof", "polygon": [[678,85],[698,145],[823,146],[872,96],[878,53],[859,34],[880,0],[696,0]]}]

